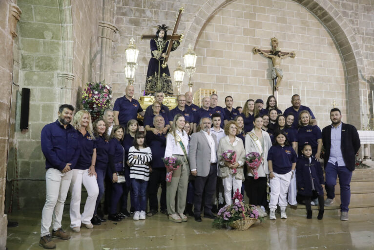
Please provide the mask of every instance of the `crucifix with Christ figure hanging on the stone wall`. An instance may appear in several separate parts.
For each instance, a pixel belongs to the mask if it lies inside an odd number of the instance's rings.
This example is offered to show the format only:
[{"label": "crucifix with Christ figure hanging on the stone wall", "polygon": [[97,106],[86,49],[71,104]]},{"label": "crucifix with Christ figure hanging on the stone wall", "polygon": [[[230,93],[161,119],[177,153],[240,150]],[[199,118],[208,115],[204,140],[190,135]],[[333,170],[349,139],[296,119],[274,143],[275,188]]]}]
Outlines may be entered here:
[{"label": "crucifix with Christ figure hanging on the stone wall", "polygon": [[271,59],[273,63],[273,67],[271,69],[271,79],[273,79],[273,95],[275,91],[278,91],[278,88],[282,82],[283,78],[283,71],[280,68],[281,59],[286,57],[295,58],[296,54],[294,51],[291,52],[282,52],[281,49],[278,47],[278,39],[276,37],[271,38],[271,46],[272,50],[265,50],[261,48],[253,48],[253,54],[263,54],[265,57]]}]

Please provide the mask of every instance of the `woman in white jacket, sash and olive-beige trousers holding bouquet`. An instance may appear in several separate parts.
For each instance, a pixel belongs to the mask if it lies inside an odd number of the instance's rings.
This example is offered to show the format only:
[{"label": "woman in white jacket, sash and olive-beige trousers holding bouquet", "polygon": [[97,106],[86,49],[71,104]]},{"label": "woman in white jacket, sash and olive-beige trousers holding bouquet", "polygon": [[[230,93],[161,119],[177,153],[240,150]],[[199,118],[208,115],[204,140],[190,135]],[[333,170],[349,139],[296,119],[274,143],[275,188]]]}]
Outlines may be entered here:
[{"label": "woman in white jacket, sash and olive-beige trousers holding bouquet", "polygon": [[[166,206],[169,220],[180,223],[187,222],[187,216],[183,214],[186,206],[187,185],[189,176],[188,166],[188,142],[189,137],[183,130],[185,117],[182,114],[174,116],[173,125],[166,136],[166,157],[174,157],[182,161],[178,169],[173,170],[171,182],[166,182]],[[170,172],[167,169],[167,172]],[[177,207],[175,207],[175,195],[178,195]]]}]

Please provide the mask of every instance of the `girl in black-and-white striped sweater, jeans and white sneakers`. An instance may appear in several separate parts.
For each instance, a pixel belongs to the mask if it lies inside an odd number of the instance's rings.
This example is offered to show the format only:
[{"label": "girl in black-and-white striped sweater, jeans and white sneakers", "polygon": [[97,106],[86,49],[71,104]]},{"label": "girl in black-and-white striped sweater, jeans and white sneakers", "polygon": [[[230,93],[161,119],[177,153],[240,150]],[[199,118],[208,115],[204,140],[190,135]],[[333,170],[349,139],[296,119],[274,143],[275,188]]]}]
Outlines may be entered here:
[{"label": "girl in black-and-white striped sweater, jeans and white sneakers", "polygon": [[128,150],[130,166],[130,181],[134,193],[135,214],[134,220],[145,220],[146,190],[149,172],[152,171],[149,162],[152,160],[152,151],[145,145],[145,135],[136,133],[134,146]]}]

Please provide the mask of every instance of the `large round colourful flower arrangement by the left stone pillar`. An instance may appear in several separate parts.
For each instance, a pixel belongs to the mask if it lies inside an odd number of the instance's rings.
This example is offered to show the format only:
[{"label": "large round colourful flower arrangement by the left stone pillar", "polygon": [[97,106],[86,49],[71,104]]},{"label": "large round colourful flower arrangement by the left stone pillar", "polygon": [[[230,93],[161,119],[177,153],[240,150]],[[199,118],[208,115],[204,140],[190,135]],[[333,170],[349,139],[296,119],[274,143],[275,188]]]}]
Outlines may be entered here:
[{"label": "large round colourful flower arrangement by the left stone pillar", "polygon": [[92,122],[103,116],[104,110],[110,108],[112,88],[103,82],[87,83],[82,93],[83,109],[91,114]]}]

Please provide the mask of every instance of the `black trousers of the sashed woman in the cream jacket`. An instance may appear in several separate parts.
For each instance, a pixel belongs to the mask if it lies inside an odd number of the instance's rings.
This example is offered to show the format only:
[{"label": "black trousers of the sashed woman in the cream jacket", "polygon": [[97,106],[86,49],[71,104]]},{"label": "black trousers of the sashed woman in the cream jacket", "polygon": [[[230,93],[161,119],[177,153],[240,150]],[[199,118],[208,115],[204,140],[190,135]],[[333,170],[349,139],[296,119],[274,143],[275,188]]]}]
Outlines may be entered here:
[{"label": "black trousers of the sashed woman in the cream jacket", "polygon": [[267,195],[266,182],[266,177],[259,177],[257,180],[254,180],[254,177],[248,176],[248,188],[246,188],[246,192],[249,198],[249,204],[256,206],[263,205]]}]

